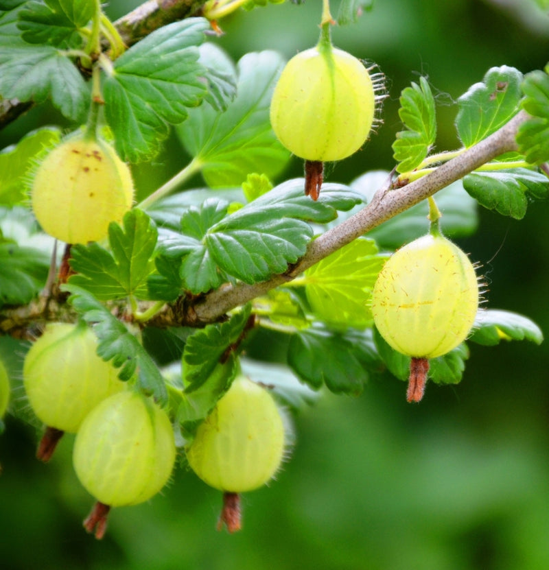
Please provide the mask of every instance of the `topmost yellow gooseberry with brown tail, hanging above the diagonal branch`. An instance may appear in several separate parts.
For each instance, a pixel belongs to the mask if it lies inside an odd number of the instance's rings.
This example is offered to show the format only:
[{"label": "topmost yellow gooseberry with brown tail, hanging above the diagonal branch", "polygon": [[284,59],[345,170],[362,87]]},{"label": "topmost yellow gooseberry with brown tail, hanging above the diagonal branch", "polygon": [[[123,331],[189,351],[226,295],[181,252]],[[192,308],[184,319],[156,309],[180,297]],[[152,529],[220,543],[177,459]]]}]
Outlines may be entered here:
[{"label": "topmost yellow gooseberry with brown tail, hanging above the diagonal branch", "polygon": [[326,38],[285,65],[272,94],[270,122],[279,141],[305,158],[305,193],[314,200],[323,162],[351,156],[367,139],[375,100],[366,67]]}]

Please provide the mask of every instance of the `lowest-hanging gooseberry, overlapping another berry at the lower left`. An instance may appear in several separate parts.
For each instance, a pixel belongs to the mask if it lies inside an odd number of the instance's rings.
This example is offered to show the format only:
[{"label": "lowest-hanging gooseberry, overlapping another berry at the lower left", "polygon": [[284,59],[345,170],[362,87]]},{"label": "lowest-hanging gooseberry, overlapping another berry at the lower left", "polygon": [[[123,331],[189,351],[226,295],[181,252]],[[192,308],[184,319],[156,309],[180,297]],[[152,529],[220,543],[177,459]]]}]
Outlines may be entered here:
[{"label": "lowest-hanging gooseberry, overlapping another berry at the lower left", "polygon": [[84,526],[102,538],[110,507],[147,501],[170,479],[176,457],[167,414],[135,390],[114,394],[97,405],[76,434],[73,465],[97,499]]}]

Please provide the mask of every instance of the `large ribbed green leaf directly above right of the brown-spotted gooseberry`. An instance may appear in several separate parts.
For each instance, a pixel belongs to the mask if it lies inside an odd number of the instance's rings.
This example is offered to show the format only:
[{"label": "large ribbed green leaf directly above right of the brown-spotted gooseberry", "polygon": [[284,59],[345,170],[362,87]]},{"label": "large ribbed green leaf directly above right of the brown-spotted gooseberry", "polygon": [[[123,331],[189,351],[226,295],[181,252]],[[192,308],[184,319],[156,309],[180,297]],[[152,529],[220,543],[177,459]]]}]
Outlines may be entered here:
[{"label": "large ribbed green leaf directly above right of the brown-spotted gooseberry", "polygon": [[154,156],[189,107],[207,95],[198,45],[209,23],[188,18],[161,27],[125,51],[104,80],[105,117],[124,160]]}]

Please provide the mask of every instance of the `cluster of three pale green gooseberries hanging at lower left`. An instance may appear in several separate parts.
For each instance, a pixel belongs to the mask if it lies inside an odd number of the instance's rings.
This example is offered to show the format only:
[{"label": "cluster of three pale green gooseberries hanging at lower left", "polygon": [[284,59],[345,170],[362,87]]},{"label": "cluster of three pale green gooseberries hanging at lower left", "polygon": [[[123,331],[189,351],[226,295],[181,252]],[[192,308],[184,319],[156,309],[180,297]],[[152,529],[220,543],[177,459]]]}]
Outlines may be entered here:
[{"label": "cluster of three pale green gooseberries hanging at lower left", "polygon": [[[9,390],[2,372],[4,400]],[[38,458],[49,460],[65,431],[76,434],[75,473],[97,499],[84,527],[97,538],[104,536],[111,507],[146,501],[170,479],[176,460],[170,417],[131,381],[117,379],[117,370],[97,356],[95,334],[85,323],[48,324],[25,357],[23,385],[47,425]],[[266,388],[240,375],[184,452],[196,474],[224,492],[220,525],[234,532],[240,528],[239,493],[268,482],[284,449],[279,407]]]}]

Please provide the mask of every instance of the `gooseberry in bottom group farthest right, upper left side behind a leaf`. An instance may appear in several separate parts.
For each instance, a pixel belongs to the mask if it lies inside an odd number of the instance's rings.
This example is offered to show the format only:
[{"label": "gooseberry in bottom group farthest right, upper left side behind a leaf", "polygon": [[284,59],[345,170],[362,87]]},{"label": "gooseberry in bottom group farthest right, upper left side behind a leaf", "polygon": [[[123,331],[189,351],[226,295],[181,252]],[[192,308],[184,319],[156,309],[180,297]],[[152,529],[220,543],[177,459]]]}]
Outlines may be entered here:
[{"label": "gooseberry in bottom group farthest right, upper left side behind a leaf", "polygon": [[224,492],[220,524],[229,531],[240,528],[237,494],[266,484],[279,469],[284,449],[284,422],[271,394],[237,377],[186,449],[196,475]]}]

